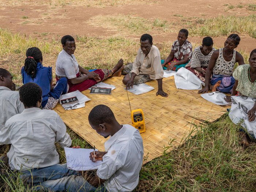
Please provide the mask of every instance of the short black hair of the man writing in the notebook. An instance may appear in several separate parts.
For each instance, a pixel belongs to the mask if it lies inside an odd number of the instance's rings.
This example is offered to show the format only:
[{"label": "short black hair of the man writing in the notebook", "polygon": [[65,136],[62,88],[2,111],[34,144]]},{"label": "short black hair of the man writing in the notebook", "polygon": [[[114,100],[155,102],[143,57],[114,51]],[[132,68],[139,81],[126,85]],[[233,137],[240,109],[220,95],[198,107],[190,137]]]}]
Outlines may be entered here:
[{"label": "short black hair of the man writing in the notebook", "polygon": [[102,123],[113,123],[116,120],[112,110],[106,105],[97,105],[89,113],[88,120],[91,125],[98,126]]}]

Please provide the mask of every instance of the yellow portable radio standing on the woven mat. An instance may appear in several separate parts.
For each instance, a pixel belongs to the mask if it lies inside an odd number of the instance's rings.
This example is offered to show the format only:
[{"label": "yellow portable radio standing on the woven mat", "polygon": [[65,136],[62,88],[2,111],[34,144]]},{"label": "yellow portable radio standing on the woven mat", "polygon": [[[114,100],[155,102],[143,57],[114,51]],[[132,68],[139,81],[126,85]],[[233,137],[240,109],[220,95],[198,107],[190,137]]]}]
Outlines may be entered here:
[{"label": "yellow portable radio standing on the woven mat", "polygon": [[145,121],[144,121],[144,114],[142,109],[135,109],[131,111],[132,117],[132,126],[136,129],[139,129],[140,133],[146,131],[145,128]]}]

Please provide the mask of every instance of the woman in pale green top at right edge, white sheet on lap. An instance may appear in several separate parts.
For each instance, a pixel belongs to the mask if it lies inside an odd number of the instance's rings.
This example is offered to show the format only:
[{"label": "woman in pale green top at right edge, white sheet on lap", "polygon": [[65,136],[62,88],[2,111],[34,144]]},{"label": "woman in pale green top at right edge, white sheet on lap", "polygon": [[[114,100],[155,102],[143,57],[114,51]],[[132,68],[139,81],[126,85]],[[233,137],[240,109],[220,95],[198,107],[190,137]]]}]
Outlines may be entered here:
[{"label": "woman in pale green top at right edge, white sheet on lap", "polygon": [[[236,80],[232,89],[232,105],[229,117],[233,123],[242,123],[244,134],[241,144],[248,146],[245,130],[256,139],[256,49],[252,50],[249,65],[240,65],[233,72]],[[236,95],[236,96],[235,96]],[[230,97],[227,100],[231,101]],[[240,107],[242,106],[242,107]]]}]

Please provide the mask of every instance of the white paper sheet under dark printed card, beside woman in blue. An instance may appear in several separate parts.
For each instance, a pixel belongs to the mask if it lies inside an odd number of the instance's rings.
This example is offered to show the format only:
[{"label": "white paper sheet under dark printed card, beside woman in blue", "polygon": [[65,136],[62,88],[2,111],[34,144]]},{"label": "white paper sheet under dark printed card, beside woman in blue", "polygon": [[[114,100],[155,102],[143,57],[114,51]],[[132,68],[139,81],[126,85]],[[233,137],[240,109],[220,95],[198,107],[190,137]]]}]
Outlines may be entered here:
[{"label": "white paper sheet under dark printed card, beside woman in blue", "polygon": [[[85,102],[91,100],[88,97],[86,97],[84,94],[82,94],[80,91],[76,90],[74,92],[61,95],[60,99],[59,99],[59,102],[62,99],[67,99],[67,98],[71,98],[71,97],[77,97],[78,98],[78,102],[72,103],[70,105],[64,105],[64,106],[62,105],[65,110],[83,108],[83,107],[85,107]],[[61,104],[61,102],[60,102],[60,104]]]}]

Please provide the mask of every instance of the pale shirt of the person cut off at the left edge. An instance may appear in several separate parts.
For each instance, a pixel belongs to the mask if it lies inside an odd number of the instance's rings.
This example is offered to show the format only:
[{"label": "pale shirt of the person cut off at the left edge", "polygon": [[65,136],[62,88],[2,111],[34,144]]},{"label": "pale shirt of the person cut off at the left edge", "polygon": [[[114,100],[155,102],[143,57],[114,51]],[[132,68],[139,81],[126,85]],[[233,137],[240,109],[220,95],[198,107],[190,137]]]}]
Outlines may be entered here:
[{"label": "pale shirt of the person cut off at the left edge", "polygon": [[24,110],[23,103],[19,100],[19,91],[12,91],[0,86],[0,131],[5,122],[12,116]]}]

